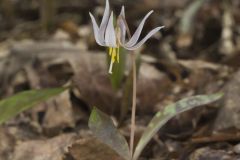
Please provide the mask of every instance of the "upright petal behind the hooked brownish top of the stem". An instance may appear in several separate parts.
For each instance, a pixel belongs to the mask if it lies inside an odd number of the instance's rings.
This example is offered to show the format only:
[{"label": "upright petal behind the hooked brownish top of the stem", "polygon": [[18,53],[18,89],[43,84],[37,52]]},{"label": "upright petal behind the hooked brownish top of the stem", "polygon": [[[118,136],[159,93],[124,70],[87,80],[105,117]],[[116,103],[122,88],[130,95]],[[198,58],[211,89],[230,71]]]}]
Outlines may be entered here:
[{"label": "upright petal behind the hooked brownish top of the stem", "polygon": [[121,10],[121,13],[118,17],[118,25],[119,25],[119,28],[120,28],[120,42],[122,44],[125,43],[125,39],[126,39],[126,20],[125,20],[125,8],[124,6],[122,6],[122,10]]}]

